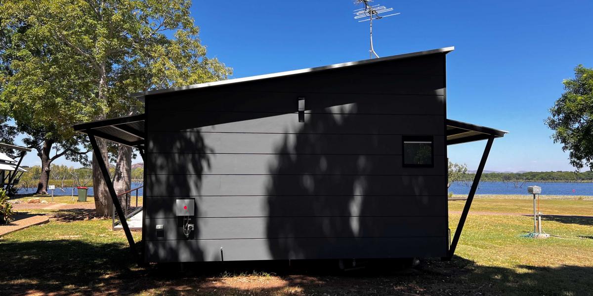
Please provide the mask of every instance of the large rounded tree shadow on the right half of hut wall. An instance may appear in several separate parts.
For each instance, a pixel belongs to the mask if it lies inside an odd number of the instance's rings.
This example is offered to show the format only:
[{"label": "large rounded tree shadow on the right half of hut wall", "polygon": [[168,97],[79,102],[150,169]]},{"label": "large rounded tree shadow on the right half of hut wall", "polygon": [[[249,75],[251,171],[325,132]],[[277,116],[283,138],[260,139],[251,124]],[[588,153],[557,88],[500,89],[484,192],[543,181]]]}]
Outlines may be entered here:
[{"label": "large rounded tree shadow on the right half of hut wall", "polygon": [[403,168],[401,136],[365,121],[372,112],[351,104],[285,134],[269,163],[273,258],[445,255],[444,168]]}]

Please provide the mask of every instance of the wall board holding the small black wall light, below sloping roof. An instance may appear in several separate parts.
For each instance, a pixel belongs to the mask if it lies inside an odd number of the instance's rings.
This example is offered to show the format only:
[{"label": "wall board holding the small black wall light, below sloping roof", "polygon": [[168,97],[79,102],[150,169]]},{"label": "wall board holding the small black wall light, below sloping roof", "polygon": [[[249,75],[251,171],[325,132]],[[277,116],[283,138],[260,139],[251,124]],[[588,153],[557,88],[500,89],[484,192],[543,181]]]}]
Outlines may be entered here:
[{"label": "wall board holding the small black wall light, below sloping roof", "polygon": [[[305,99],[305,113],[334,114],[433,114],[443,115],[444,97],[438,95],[315,94],[302,92],[202,91],[167,94],[151,101],[147,113],[162,112],[277,112],[298,110]],[[190,101],[190,102],[188,102]],[[179,108],[183,105],[183,108]]]}]

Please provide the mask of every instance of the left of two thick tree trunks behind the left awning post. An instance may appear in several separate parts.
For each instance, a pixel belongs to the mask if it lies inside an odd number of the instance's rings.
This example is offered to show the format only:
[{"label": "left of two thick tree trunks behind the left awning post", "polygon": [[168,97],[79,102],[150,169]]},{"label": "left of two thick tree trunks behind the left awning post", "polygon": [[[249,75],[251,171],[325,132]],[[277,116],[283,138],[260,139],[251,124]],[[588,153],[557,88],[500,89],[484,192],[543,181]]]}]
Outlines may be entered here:
[{"label": "left of two thick tree trunks behind the left awning post", "polygon": [[[107,152],[107,141],[97,138],[97,145],[101,150],[101,156],[107,162],[106,166],[109,168],[109,152]],[[95,198],[95,211],[97,217],[111,217],[111,208],[113,207],[113,201],[109,195],[109,189],[107,189],[107,183],[103,179],[103,173],[98,165],[97,156],[93,151],[93,195]]]}]

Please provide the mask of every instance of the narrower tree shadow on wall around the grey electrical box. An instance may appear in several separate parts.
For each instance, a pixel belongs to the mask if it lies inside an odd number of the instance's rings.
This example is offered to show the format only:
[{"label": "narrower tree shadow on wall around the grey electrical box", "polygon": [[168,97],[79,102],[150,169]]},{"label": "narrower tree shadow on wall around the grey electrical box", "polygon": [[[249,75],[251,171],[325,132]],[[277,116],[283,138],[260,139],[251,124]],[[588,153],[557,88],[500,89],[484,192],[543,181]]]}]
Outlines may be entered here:
[{"label": "narrower tree shadow on wall around the grey electrical box", "polygon": [[[172,136],[174,135],[174,136]],[[200,213],[200,188],[205,170],[211,166],[209,153],[213,149],[209,147],[199,131],[187,131],[170,133],[167,131],[155,131],[149,137],[150,153],[146,154],[146,178],[148,182],[145,188],[144,207],[150,218],[165,218],[173,227],[165,227],[164,231],[173,231],[175,239],[184,239],[181,229],[183,218],[176,216],[177,198],[196,198],[195,216]],[[162,220],[160,220],[162,222]],[[182,258],[193,258],[203,260],[203,250],[199,244],[180,244],[176,240],[170,240],[169,233],[157,233],[152,231],[154,220],[147,220],[145,239],[162,240],[158,247],[148,244],[147,256],[153,260],[160,258],[162,261],[181,261]],[[199,225],[195,223],[195,229],[190,234],[190,241],[199,237]],[[168,239],[167,239],[168,237]],[[195,241],[194,241],[195,242]]]}]

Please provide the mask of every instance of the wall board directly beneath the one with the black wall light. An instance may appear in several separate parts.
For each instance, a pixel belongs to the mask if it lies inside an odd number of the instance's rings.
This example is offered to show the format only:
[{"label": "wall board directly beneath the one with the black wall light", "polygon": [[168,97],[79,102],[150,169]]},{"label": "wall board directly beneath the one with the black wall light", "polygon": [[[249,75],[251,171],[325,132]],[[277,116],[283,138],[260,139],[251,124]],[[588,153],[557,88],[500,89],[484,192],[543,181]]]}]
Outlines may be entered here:
[{"label": "wall board directly beneath the one with the black wall light", "polygon": [[442,115],[304,114],[248,112],[159,112],[148,131],[212,133],[444,134]]}]

